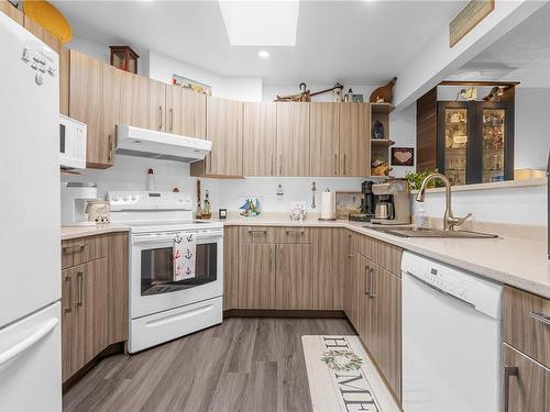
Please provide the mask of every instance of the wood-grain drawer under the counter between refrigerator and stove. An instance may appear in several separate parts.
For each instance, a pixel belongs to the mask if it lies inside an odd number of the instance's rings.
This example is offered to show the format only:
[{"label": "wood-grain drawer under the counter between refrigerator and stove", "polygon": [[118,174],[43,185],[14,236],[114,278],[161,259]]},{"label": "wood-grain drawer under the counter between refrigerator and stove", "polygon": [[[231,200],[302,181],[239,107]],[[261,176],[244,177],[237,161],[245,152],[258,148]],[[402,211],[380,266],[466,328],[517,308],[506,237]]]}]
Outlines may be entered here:
[{"label": "wood-grain drawer under the counter between refrigerator and stove", "polygon": [[107,256],[109,236],[89,236],[62,242],[62,268]]}]

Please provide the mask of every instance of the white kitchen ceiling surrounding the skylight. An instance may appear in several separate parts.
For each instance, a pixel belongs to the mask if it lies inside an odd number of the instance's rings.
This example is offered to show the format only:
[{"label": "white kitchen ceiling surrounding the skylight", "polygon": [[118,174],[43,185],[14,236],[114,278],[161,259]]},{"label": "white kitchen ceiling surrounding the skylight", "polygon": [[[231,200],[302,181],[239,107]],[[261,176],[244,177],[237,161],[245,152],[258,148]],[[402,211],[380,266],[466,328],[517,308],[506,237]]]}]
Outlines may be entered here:
[{"label": "white kitchen ceiling surrounding the skylight", "polygon": [[[265,85],[378,85],[464,5],[457,1],[301,1],[296,46],[231,46],[218,1],[53,1],[74,34],[130,44]],[[260,59],[265,48],[268,59]]]}]

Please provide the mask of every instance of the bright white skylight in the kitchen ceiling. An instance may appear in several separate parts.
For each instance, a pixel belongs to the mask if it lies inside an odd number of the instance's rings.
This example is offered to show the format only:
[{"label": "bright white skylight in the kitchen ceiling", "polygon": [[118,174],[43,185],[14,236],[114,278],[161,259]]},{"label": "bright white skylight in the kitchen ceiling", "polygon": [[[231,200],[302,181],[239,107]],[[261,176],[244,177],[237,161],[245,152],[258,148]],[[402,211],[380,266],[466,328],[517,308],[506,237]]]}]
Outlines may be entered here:
[{"label": "bright white skylight in the kitchen ceiling", "polygon": [[299,0],[219,0],[232,46],[294,46]]}]

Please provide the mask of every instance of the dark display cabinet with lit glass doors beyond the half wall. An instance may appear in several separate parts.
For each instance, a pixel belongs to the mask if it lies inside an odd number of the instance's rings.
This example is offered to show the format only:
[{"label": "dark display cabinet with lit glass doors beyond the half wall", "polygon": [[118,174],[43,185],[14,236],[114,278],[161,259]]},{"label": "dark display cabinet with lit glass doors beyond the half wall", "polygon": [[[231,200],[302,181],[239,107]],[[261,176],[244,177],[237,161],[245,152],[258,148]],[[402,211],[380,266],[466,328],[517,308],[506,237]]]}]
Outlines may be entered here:
[{"label": "dark display cabinet with lit glass doors beyond the half wall", "polygon": [[438,102],[438,170],[452,185],[514,178],[514,111],[506,102]]}]

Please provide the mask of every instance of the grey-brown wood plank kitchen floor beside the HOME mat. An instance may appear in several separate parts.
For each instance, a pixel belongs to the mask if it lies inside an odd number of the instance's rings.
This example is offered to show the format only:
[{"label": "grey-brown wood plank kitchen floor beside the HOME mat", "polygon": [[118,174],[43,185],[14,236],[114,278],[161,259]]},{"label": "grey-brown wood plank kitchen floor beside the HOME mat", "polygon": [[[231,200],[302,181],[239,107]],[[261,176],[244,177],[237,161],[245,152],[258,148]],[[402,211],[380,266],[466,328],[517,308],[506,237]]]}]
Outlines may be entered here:
[{"label": "grey-brown wood plank kitchen floor beside the HOME mat", "polygon": [[64,411],[311,411],[301,335],[353,334],[341,319],[232,318],[136,355],[103,359]]}]

